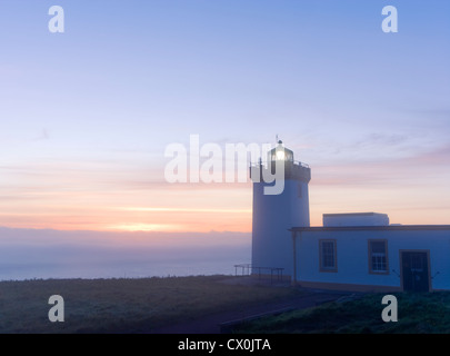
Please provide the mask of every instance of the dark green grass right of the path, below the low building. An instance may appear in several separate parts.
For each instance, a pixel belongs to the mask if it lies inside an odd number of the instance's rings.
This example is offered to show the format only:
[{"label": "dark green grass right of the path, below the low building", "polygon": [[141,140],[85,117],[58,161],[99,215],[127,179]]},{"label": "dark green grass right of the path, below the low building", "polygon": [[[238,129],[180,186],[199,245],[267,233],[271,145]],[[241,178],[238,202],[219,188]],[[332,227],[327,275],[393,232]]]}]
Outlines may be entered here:
[{"label": "dark green grass right of the path, below the low building", "polygon": [[384,323],[382,294],[293,310],[242,325],[236,333],[449,334],[450,293],[394,294],[398,322]]}]

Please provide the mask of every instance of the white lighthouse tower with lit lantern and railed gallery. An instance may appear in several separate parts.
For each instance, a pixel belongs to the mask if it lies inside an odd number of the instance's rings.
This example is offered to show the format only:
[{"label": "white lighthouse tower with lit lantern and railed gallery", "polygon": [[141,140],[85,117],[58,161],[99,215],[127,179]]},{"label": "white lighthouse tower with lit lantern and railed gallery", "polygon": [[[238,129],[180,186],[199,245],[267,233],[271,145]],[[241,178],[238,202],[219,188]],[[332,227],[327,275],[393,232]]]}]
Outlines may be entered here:
[{"label": "white lighthouse tower with lit lantern and railed gallery", "polygon": [[[280,161],[284,167],[283,189],[280,194],[268,195],[264,187],[274,184],[264,177],[269,177],[268,172],[273,174]],[[291,275],[292,240],[288,229],[310,226],[308,182],[311,169],[294,161],[293,152],[278,141],[268,154],[267,165],[260,161],[250,167],[250,178],[253,181],[252,271],[270,274],[273,268],[283,268],[284,275]]]}]

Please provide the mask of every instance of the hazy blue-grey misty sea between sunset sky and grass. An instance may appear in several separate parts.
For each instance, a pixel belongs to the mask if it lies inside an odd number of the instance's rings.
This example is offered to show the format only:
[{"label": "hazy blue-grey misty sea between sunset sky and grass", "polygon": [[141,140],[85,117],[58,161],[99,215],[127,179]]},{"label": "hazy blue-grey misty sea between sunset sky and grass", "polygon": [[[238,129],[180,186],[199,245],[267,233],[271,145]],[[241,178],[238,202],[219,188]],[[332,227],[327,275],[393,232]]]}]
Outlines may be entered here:
[{"label": "hazy blue-grey misty sea between sunset sky and grass", "polygon": [[0,227],[0,280],[233,275],[248,233],[104,233]]}]

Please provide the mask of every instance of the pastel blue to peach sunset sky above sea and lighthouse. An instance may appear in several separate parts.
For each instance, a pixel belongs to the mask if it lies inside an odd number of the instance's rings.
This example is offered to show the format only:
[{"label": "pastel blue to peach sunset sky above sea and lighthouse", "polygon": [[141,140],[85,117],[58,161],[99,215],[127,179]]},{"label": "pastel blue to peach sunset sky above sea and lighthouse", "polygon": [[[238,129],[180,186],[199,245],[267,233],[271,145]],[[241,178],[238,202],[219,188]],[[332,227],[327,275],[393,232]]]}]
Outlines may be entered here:
[{"label": "pastel blue to peach sunset sky above sea and lighthouse", "polygon": [[250,231],[250,182],[164,180],[190,135],[278,135],[312,225],[450,224],[449,1],[2,0],[0,46],[0,226]]}]

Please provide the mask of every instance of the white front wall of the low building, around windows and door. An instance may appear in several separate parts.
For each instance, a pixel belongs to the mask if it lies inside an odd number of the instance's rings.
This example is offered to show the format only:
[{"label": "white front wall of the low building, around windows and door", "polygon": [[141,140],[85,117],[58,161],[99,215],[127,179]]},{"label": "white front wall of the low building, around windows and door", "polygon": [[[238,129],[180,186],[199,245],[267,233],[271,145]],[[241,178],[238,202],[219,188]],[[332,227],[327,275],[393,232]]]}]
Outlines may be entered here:
[{"label": "white front wall of the low building, around windows and door", "polygon": [[[319,270],[319,239],[337,240],[337,273]],[[369,239],[388,240],[389,275],[369,274]],[[400,287],[400,249],[430,250],[431,277],[440,273],[432,288],[450,289],[449,230],[302,231],[297,238],[297,280]]]}]

